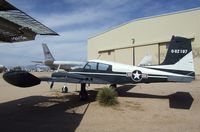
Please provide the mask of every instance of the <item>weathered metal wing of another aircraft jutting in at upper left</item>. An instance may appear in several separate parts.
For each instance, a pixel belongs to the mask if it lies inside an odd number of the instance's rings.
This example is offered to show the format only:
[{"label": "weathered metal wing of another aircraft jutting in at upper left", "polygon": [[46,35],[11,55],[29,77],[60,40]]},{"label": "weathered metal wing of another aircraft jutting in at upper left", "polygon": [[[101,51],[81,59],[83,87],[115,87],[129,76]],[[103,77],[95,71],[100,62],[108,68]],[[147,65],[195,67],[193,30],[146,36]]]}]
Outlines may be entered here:
[{"label": "weathered metal wing of another aircraft jutting in at upper left", "polygon": [[5,0],[0,0],[0,41],[34,40],[36,35],[58,35],[25,12]]}]

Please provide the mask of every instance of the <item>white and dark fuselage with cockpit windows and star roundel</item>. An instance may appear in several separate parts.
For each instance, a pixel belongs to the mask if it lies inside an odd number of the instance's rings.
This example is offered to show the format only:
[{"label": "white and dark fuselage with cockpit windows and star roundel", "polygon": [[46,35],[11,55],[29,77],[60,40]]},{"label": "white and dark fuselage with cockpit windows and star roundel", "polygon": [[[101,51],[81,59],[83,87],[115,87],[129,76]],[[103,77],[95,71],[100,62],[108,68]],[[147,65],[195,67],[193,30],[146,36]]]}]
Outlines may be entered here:
[{"label": "white and dark fuselage with cockpit windows and star roundel", "polygon": [[[162,71],[153,67],[137,67],[132,65],[91,60],[83,68],[74,69],[68,73],[56,72],[52,75],[58,81],[68,83],[91,84],[127,84],[155,82],[190,82],[191,76],[176,71]],[[73,75],[73,76],[72,76]]]}]

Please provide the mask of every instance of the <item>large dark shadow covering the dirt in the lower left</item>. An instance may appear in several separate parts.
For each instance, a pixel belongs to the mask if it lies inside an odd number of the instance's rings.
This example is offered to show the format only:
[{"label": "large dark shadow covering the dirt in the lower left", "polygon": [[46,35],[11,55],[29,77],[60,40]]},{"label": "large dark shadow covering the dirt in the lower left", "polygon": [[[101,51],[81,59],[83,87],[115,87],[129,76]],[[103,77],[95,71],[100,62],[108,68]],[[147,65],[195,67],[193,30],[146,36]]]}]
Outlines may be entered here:
[{"label": "large dark shadow covering the dirt in the lower left", "polygon": [[79,126],[91,101],[92,98],[84,102],[77,95],[66,95],[31,96],[2,103],[0,131],[72,132]]}]

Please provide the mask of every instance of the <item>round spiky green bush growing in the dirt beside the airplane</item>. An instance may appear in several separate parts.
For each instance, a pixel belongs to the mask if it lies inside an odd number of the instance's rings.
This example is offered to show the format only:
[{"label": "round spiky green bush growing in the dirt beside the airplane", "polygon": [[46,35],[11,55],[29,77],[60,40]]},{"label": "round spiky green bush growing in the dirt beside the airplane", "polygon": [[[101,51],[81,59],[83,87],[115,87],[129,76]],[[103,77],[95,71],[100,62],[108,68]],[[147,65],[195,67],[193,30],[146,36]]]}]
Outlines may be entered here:
[{"label": "round spiky green bush growing in the dirt beside the airplane", "polygon": [[100,105],[114,106],[118,104],[117,96],[118,94],[115,89],[104,87],[103,89],[99,90],[96,100],[99,102]]}]

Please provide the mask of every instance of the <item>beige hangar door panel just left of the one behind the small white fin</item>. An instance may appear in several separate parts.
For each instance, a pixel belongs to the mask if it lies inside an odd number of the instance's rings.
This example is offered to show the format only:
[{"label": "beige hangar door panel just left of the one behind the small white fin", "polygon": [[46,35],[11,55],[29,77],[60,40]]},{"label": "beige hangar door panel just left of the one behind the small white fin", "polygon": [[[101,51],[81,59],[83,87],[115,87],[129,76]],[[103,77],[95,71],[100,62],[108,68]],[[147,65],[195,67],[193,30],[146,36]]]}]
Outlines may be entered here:
[{"label": "beige hangar door panel just left of the one behind the small white fin", "polygon": [[115,50],[115,61],[133,65],[133,48]]}]

